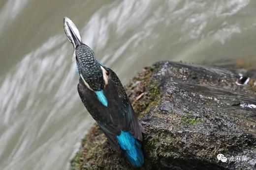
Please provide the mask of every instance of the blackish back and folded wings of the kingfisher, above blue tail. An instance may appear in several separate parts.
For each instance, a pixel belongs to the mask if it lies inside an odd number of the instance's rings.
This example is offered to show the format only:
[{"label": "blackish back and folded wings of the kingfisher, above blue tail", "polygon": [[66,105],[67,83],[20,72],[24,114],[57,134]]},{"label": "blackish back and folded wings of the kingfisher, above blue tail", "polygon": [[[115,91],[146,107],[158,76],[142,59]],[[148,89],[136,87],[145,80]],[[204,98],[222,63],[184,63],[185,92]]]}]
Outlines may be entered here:
[{"label": "blackish back and folded wings of the kingfisher, above blue tail", "polygon": [[[139,136],[139,140],[142,140],[142,136],[140,134],[141,129],[143,128],[140,123],[135,123],[135,125],[133,125],[134,123],[131,124],[132,120],[138,120],[122,83],[112,70],[106,67],[104,68],[109,73],[108,84],[103,89],[104,96],[107,98],[108,102],[107,107],[98,100],[93,91],[84,85],[80,78],[78,92],[84,105],[96,122],[103,127],[103,130],[105,129],[105,131],[108,131],[111,129],[111,133],[115,135],[120,134],[120,130],[131,130],[132,133]],[[137,128],[138,125],[140,128]],[[137,131],[134,131],[134,129]]]}]

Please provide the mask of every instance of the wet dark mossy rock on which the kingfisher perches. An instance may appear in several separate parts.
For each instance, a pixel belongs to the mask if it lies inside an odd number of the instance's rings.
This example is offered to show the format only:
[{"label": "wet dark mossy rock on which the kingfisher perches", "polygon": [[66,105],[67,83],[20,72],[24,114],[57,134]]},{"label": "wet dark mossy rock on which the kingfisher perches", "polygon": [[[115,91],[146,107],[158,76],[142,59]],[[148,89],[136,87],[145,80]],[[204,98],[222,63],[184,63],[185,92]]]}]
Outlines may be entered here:
[{"label": "wet dark mossy rock on which the kingfisher perches", "polygon": [[[126,91],[146,130],[141,169],[256,169],[256,87],[253,77],[248,85],[235,83],[245,71],[166,61],[134,77]],[[134,168],[94,125],[71,169]]]}]

